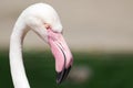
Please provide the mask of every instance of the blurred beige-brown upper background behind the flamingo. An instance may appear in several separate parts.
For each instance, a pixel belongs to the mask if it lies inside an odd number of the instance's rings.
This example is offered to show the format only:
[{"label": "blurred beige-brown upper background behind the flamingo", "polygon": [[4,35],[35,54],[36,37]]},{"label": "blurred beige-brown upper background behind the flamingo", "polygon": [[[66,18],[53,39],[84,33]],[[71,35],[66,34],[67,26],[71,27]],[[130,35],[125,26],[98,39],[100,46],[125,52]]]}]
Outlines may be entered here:
[{"label": "blurred beige-brown upper background behind the flamingo", "polygon": [[[0,47],[9,46],[21,11],[37,2],[50,3],[58,11],[71,48],[133,52],[133,0],[1,0]],[[24,48],[47,46],[34,33],[28,33]]]}]

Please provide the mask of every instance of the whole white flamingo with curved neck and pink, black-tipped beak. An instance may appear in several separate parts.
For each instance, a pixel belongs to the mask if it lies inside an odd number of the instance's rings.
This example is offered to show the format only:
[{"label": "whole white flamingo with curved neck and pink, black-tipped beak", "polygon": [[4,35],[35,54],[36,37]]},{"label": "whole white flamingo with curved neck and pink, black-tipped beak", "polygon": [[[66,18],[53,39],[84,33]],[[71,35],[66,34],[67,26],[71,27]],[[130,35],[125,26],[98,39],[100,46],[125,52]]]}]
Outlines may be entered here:
[{"label": "whole white flamingo with curved neck and pink, black-tipped beak", "polygon": [[14,88],[30,88],[22,61],[23,38],[30,30],[51,47],[55,58],[57,84],[61,84],[71,69],[73,56],[63,38],[57,11],[50,4],[34,3],[20,14],[10,37],[10,70]]}]

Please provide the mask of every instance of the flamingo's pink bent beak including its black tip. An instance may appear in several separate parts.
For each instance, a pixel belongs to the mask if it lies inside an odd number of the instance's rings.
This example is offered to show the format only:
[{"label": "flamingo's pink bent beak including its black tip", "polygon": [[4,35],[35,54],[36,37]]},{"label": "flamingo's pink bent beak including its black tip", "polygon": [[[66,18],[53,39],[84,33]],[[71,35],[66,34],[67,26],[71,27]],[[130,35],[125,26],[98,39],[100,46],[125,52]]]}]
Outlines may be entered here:
[{"label": "flamingo's pink bent beak including its black tip", "polygon": [[71,69],[73,57],[61,33],[49,30],[48,43],[55,58],[57,84],[61,84]]}]

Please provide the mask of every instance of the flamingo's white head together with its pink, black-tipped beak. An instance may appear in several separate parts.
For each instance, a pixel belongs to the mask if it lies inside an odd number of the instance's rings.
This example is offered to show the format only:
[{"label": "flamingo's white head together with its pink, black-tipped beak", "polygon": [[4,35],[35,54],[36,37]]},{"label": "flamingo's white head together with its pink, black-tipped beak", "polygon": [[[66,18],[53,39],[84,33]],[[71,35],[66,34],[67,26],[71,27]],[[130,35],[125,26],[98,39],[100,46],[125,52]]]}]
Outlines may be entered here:
[{"label": "flamingo's white head together with its pink, black-tipped beak", "polygon": [[51,47],[55,58],[57,82],[64,80],[73,64],[72,54],[62,35],[62,24],[58,13],[50,6],[39,6],[35,15],[30,16],[29,26]]}]

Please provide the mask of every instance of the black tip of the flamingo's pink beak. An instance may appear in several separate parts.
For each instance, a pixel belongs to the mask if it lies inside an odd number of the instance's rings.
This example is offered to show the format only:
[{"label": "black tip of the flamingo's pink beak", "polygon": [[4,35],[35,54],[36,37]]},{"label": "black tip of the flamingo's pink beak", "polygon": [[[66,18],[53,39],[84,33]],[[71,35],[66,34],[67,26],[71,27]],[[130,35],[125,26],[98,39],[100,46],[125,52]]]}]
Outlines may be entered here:
[{"label": "black tip of the flamingo's pink beak", "polygon": [[64,68],[60,73],[57,73],[57,84],[61,84],[68,77],[70,69],[71,66],[69,68]]}]

